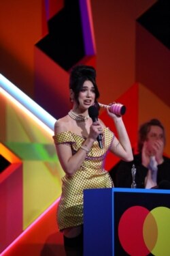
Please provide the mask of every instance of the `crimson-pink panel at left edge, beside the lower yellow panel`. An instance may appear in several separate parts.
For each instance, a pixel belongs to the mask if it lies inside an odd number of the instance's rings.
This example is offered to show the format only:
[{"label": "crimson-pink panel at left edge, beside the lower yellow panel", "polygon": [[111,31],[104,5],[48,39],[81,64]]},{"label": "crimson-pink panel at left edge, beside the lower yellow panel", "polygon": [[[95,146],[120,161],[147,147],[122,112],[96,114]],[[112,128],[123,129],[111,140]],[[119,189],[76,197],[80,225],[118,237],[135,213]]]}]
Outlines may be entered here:
[{"label": "crimson-pink panel at left edge, beside the lower yellow panel", "polygon": [[5,171],[11,174],[0,183],[0,253],[22,233],[22,164]]}]

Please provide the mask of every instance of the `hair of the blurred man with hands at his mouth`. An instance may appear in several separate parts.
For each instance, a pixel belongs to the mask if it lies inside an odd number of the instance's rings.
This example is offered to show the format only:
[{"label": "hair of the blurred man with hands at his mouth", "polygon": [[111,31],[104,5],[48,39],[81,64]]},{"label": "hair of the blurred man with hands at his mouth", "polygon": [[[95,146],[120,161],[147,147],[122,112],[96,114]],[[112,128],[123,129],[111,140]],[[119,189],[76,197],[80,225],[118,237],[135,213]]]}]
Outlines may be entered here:
[{"label": "hair of the blurred man with hands at his mouth", "polygon": [[163,124],[161,124],[158,119],[151,119],[150,121],[142,124],[139,128],[138,144],[137,144],[138,152],[141,152],[143,143],[147,139],[147,135],[148,135],[148,132],[150,132],[151,126],[159,126],[161,129],[163,129],[164,142],[165,142],[165,128]]}]

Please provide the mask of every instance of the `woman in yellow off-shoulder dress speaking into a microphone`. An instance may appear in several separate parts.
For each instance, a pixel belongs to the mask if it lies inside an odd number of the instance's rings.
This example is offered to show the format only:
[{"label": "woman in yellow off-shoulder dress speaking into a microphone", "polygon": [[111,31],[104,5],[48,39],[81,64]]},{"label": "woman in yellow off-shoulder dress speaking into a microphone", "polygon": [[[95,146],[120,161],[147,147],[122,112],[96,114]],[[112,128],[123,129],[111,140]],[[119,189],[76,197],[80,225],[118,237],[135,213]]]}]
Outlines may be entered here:
[{"label": "woman in yellow off-shoulder dress speaking into a microphone", "polygon": [[[88,116],[90,106],[99,106],[95,68],[75,66],[71,71],[69,88],[73,109],[56,121],[53,139],[65,171],[57,212],[58,227],[63,231],[67,251],[71,246],[76,251],[76,246],[82,241],[83,190],[114,186],[109,173],[103,169],[108,150],[125,161],[133,160],[133,153],[122,117],[107,111],[114,120],[118,140],[100,119],[92,122]],[[103,135],[103,149],[97,142],[99,134]]]}]

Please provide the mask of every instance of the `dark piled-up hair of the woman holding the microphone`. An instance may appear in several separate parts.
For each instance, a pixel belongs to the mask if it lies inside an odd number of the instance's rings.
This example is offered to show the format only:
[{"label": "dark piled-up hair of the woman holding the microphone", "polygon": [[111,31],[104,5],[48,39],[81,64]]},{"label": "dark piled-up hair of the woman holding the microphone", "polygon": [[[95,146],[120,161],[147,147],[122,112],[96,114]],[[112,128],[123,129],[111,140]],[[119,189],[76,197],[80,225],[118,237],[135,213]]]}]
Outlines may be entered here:
[{"label": "dark piled-up hair of the woman holding the microphone", "polygon": [[85,81],[91,81],[95,87],[95,103],[97,104],[97,99],[99,98],[99,90],[96,83],[96,70],[92,66],[86,66],[79,64],[74,66],[71,70],[69,78],[69,89],[73,90],[74,100],[78,102],[78,96],[82,89]]}]

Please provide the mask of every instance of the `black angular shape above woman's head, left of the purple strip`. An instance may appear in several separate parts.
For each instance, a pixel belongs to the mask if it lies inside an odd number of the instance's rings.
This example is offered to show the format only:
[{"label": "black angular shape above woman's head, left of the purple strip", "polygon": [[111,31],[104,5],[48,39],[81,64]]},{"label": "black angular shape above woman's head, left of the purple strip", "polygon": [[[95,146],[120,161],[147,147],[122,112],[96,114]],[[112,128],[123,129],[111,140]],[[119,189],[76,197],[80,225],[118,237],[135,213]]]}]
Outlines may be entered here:
[{"label": "black angular shape above woman's head, left of the purple strip", "polygon": [[69,70],[84,57],[79,1],[65,1],[65,8],[48,22],[48,35],[36,46],[59,66]]}]

